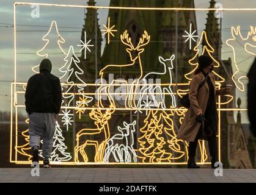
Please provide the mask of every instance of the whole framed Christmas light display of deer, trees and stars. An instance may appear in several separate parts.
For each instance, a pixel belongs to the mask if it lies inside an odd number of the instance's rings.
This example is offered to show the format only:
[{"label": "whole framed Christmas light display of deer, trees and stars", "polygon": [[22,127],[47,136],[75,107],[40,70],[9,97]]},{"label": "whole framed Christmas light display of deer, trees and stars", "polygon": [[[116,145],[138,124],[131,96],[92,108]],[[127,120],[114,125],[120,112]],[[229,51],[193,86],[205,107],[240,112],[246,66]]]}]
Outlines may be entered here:
[{"label": "whole framed Christmas light display of deer, trees and stars", "polygon": [[[20,5],[23,3],[15,3],[14,4],[14,15],[16,14],[16,5]],[[25,3],[27,5],[31,5],[30,3]],[[61,6],[61,7],[87,7],[84,5],[57,5],[57,4],[40,4],[44,6]],[[100,7],[90,7],[90,8],[100,8]],[[103,7],[104,9],[107,7]],[[114,9],[110,7],[110,9]],[[117,9],[141,9],[141,8],[125,8],[120,7]],[[156,8],[142,8],[141,10],[156,10]],[[160,9],[164,10],[164,9]],[[172,10],[167,9],[167,10]],[[185,9],[173,9],[173,10],[185,10]],[[186,9],[191,10],[191,9]],[[209,9],[205,9],[209,10]],[[15,18],[15,17],[14,17]],[[28,130],[18,128],[18,111],[19,109],[24,109],[24,102],[18,102],[18,96],[24,95],[26,91],[26,83],[17,82],[16,80],[16,20],[14,21],[14,42],[15,42],[15,79],[12,83],[12,111],[15,110],[15,129],[11,126],[11,138],[10,138],[10,161],[13,163],[21,163],[21,164],[30,164],[31,154],[29,152],[29,144],[28,144]],[[108,27],[107,27],[108,26]],[[104,26],[105,29],[102,30],[108,34],[108,43],[110,42],[110,36],[114,35],[113,32],[114,26],[110,26],[110,18],[108,18],[108,24]],[[50,30],[55,28],[57,30],[57,24],[55,21],[51,23]],[[192,30],[191,30],[192,32]],[[48,32],[49,33],[49,32]],[[255,29],[252,30],[252,34],[255,34]],[[59,32],[57,30],[57,35]],[[194,36],[194,32],[191,33],[191,36]],[[194,37],[193,37],[194,38]],[[202,40],[205,39],[205,46],[203,46],[202,51],[199,49],[200,44],[202,44]],[[43,38],[44,41],[47,41],[46,36]],[[65,43],[65,40],[60,37],[58,38],[59,46],[62,43]],[[64,41],[63,41],[64,40]],[[81,119],[81,116],[84,115],[85,112],[89,112],[89,117],[92,120],[93,127],[92,128],[84,128],[77,129],[75,134],[75,148],[67,148],[65,146],[64,136],[62,135],[63,131],[60,128],[59,123],[56,123],[56,134],[54,135],[54,150],[52,155],[52,164],[61,164],[61,165],[89,165],[89,164],[153,164],[153,165],[186,165],[187,155],[188,155],[188,143],[186,141],[179,140],[177,138],[177,126],[175,126],[175,122],[178,121],[180,124],[183,121],[183,118],[186,113],[186,108],[177,107],[175,102],[175,98],[183,96],[188,91],[189,82],[192,79],[192,73],[186,74],[185,77],[188,79],[187,83],[172,83],[172,70],[173,60],[175,59],[175,55],[171,55],[169,59],[164,59],[163,57],[159,57],[159,63],[164,66],[163,73],[150,73],[157,74],[158,77],[165,76],[168,79],[167,83],[139,83],[142,79],[147,79],[150,77],[150,74],[145,75],[143,72],[144,65],[141,63],[141,55],[144,54],[144,48],[147,44],[150,44],[151,37],[148,35],[147,30],[144,31],[142,37],[139,39],[139,43],[137,46],[134,46],[132,43],[128,31],[126,30],[123,34],[120,35],[120,40],[123,44],[128,46],[126,52],[128,52],[130,56],[131,63],[128,65],[106,65],[103,69],[99,71],[99,76],[101,79],[101,85],[98,88],[98,91],[95,93],[87,93],[86,87],[92,86],[97,88],[98,85],[95,83],[86,83],[82,79],[83,71],[79,67],[79,58],[76,57],[73,46],[70,46],[68,53],[65,54],[65,65],[62,66],[59,71],[62,73],[60,79],[67,77],[67,79],[62,82],[63,88],[63,104],[62,110],[60,111],[60,116],[62,116],[61,121],[64,122],[65,127],[71,126],[74,121],[73,118],[78,116]],[[252,38],[255,40],[255,38]],[[193,39],[189,40],[193,41]],[[82,41],[81,41],[82,43]],[[83,44],[84,43],[84,44]],[[86,51],[89,48],[90,41],[85,40],[82,44],[78,46],[82,46],[82,49]],[[46,45],[48,42],[46,42]],[[44,47],[44,48],[45,48]],[[61,48],[61,47],[60,47]],[[254,48],[254,45],[247,44],[247,51],[252,52],[250,50]],[[43,50],[43,49],[41,49]],[[89,50],[88,50],[89,51]],[[195,52],[195,56],[189,60],[189,63],[196,68],[198,65],[196,61],[196,57],[199,54],[208,54],[211,57],[214,53],[213,47],[209,44],[207,40],[206,32],[202,32],[199,43],[193,50]],[[39,51],[38,51],[39,52]],[[136,56],[131,55],[132,52],[136,53]],[[39,52],[40,53],[40,52]],[[43,57],[46,57],[44,55]],[[214,59],[213,59],[214,60]],[[219,63],[214,60],[216,63],[215,67],[219,67]],[[73,68],[73,66],[75,68]],[[115,107],[115,101],[112,99],[112,93],[110,88],[116,85],[114,80],[111,83],[103,83],[102,80],[106,77],[107,73],[111,72],[111,69],[116,70],[122,69],[125,71],[127,66],[135,67],[139,69],[139,73],[134,76],[134,82],[128,83],[128,80],[125,80],[122,84],[118,84],[119,86],[123,86],[126,88],[125,93],[125,106],[123,107]],[[35,68],[34,68],[35,69]],[[119,71],[118,71],[119,72]],[[214,73],[218,80],[216,81],[216,88],[221,88],[222,82],[224,82],[224,78]],[[75,82],[71,79],[72,77],[76,78]],[[143,80],[142,80],[143,81]],[[77,88],[76,88],[77,87]],[[137,88],[142,87],[141,90],[137,90]],[[176,90],[177,88],[177,90]],[[175,89],[175,90],[174,90]],[[76,92],[75,92],[76,91]],[[106,94],[108,97],[108,104],[103,104],[101,102],[101,97]],[[95,105],[91,105],[90,102],[93,101],[95,95],[98,95],[98,102]],[[159,95],[159,99],[156,96]],[[139,96],[139,102],[136,102],[136,98]],[[169,96],[172,101],[170,101],[170,106],[165,102],[166,97]],[[177,97],[175,97],[177,96]],[[153,98],[152,98],[153,97]],[[155,99],[154,99],[155,98]],[[229,99],[225,102],[222,102],[220,98],[218,98],[217,106],[218,106],[218,115],[220,118],[221,112],[224,111],[233,111],[233,110],[243,110],[237,108],[223,108],[222,106],[225,104],[229,104],[232,101],[233,96],[229,96]],[[104,102],[106,103],[106,102]],[[115,135],[112,135],[111,132],[114,129],[111,129],[110,125],[112,122],[112,116],[115,113],[115,110],[130,110],[133,112],[146,113],[145,120],[142,124],[136,121],[122,121],[123,127],[117,127],[119,132]],[[74,113],[74,114],[73,114]],[[11,113],[12,115],[12,113]],[[174,121],[175,117],[175,121]],[[60,121],[60,120],[59,120]],[[11,124],[13,122],[13,118],[11,118]],[[28,124],[28,120],[26,121]],[[68,130],[68,127],[66,130]],[[221,121],[218,123],[218,149],[219,149],[219,157],[220,157],[220,129],[221,129]],[[135,134],[136,132],[136,134]],[[22,135],[21,140],[18,140],[18,137]],[[137,135],[137,137],[135,137]],[[136,139],[137,138],[137,139]],[[120,142],[119,142],[120,141]],[[136,142],[135,142],[136,141]],[[94,146],[95,152],[93,152],[94,157],[93,161],[89,160],[89,154],[87,150],[87,146]],[[200,161],[199,164],[210,164],[208,160],[207,152],[205,149],[205,142],[199,142],[200,148]],[[71,153],[67,152],[73,151],[73,158],[71,158]],[[26,160],[24,160],[26,159]]]}]

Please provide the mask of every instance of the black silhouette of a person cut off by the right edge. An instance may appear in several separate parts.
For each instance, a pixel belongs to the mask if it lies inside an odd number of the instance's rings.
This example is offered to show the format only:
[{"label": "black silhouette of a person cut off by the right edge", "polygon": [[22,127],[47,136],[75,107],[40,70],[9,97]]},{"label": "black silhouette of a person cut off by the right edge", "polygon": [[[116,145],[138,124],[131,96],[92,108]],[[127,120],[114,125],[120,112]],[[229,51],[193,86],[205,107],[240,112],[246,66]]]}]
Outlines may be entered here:
[{"label": "black silhouette of a person cut off by the right edge", "polygon": [[256,137],[256,58],[249,69],[247,77],[249,79],[247,85],[248,117],[251,123],[251,132],[254,134],[254,137]]}]

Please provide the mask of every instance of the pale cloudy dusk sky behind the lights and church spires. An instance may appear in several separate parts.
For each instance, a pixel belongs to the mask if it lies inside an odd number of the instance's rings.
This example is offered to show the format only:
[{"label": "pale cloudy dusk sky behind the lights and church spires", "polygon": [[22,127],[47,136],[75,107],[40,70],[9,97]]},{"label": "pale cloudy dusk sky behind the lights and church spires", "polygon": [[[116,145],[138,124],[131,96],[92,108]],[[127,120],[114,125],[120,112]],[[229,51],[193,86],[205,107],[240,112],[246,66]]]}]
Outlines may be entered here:
[{"label": "pale cloudy dusk sky behind the lights and church spires", "polygon": [[[145,0],[141,0],[145,1]],[[23,2],[23,1],[17,1]],[[83,0],[62,0],[62,1],[49,1],[49,0],[37,0],[26,2],[45,2],[56,4],[72,4],[72,5],[84,5],[87,1]],[[109,5],[109,0],[98,0],[97,5],[106,6]],[[225,8],[256,8],[255,0],[223,0],[217,1],[222,3]],[[196,8],[209,7],[209,1],[195,0]],[[76,46],[79,44],[81,38],[82,25],[84,24],[85,10],[82,8],[59,8],[59,7],[40,7],[40,18],[31,17],[32,8],[29,5],[22,5],[17,7],[16,19],[17,24],[17,80],[19,82],[27,82],[30,76],[32,76],[31,67],[35,66],[42,60],[42,57],[38,57],[35,54],[41,49],[45,43],[42,41],[43,35],[46,34],[49,29],[49,21],[56,20],[60,34],[65,37],[64,51],[68,51],[70,45]],[[203,29],[205,29],[205,23],[207,18],[205,11],[196,11],[197,16],[197,30],[199,35]],[[250,26],[256,27],[255,21],[256,11],[236,11],[236,12],[224,12],[222,18],[222,59],[232,59],[232,49],[227,46],[225,40],[231,37],[230,28],[232,26],[241,26],[241,32],[245,35]],[[101,29],[103,24],[106,24],[108,17],[108,9],[98,10],[98,18]],[[14,51],[13,51],[13,1],[0,0],[0,110],[10,110],[10,85],[14,79]],[[103,40],[102,50],[104,48]],[[50,46],[50,45],[49,45]],[[79,53],[80,48],[76,47],[75,51]],[[249,66],[251,65],[254,57],[248,54],[240,46],[237,46],[239,57],[239,64],[245,73],[247,73]],[[79,55],[78,55],[79,56]],[[233,64],[234,66],[234,64]],[[241,93],[237,91],[237,97],[242,99],[242,107],[246,107],[246,91]],[[243,121],[247,122],[246,112],[242,113]]]}]

